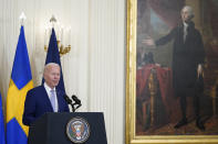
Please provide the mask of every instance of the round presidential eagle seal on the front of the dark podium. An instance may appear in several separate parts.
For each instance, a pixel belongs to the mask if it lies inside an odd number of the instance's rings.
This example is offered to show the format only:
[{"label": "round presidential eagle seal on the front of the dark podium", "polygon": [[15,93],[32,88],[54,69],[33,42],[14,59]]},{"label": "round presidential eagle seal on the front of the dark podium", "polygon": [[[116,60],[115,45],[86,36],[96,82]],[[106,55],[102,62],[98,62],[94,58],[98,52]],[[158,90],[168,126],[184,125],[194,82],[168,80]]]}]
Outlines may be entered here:
[{"label": "round presidential eagle seal on the front of the dark podium", "polygon": [[73,143],[84,143],[90,137],[90,125],[80,117],[73,118],[66,124],[66,135]]}]

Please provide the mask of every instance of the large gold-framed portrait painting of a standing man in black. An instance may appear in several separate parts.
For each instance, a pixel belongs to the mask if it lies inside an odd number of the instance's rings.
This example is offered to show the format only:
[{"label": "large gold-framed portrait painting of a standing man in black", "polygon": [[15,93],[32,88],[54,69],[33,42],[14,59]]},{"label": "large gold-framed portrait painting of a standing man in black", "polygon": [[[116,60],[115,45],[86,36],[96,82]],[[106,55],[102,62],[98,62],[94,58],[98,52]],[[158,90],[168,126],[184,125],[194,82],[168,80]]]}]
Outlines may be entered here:
[{"label": "large gold-framed portrait painting of a standing man in black", "polygon": [[218,143],[218,1],[126,3],[126,144]]}]

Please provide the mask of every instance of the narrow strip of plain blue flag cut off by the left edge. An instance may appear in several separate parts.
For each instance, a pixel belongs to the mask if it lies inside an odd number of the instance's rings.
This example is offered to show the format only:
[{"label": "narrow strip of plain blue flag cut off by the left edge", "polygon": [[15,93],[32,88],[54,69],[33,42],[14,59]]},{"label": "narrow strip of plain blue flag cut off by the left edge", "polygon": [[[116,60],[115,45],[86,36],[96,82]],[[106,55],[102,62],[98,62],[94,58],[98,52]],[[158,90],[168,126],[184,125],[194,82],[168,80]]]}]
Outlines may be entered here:
[{"label": "narrow strip of plain blue flag cut off by the left edge", "polygon": [[0,93],[0,144],[6,144],[1,93]]}]

